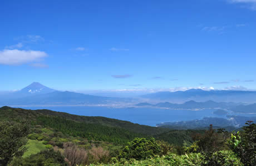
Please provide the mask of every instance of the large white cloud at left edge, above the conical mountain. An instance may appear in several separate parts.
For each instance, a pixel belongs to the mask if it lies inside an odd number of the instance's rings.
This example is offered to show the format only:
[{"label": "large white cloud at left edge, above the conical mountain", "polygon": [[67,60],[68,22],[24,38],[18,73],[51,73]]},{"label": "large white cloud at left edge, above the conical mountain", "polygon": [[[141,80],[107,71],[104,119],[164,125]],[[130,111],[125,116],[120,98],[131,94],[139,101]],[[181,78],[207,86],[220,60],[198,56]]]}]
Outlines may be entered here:
[{"label": "large white cloud at left edge, above the conical mountain", "polygon": [[43,51],[4,49],[0,51],[0,64],[21,65],[31,63],[33,61],[39,61],[46,56],[47,54]]}]

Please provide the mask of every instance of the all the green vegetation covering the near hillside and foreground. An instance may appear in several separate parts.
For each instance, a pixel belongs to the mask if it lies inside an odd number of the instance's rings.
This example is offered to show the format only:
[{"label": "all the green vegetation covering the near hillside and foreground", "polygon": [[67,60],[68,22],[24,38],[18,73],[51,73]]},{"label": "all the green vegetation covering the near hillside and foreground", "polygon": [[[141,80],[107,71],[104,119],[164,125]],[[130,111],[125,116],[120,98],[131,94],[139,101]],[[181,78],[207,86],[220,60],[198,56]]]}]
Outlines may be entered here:
[{"label": "all the green vegetation covering the near hillside and foreground", "polygon": [[213,126],[172,130],[104,117],[2,107],[0,122],[0,165],[256,164],[252,121],[234,133]]}]

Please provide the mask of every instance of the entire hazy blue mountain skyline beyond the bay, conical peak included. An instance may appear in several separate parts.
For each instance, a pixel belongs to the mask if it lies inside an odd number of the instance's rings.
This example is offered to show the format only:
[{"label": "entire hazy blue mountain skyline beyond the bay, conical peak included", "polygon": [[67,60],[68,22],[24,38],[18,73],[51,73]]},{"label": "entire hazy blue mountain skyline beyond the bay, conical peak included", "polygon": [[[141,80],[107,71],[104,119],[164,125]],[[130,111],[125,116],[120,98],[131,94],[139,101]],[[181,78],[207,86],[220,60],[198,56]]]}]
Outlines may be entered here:
[{"label": "entire hazy blue mountain skyline beyond the bay, conical peak included", "polygon": [[[70,91],[57,91],[46,87],[39,82],[33,82],[22,90],[15,92],[4,92],[0,94],[0,105],[132,105],[139,101],[137,106],[155,106],[168,108],[233,108],[240,102],[256,103],[256,91],[231,91],[190,89],[176,92],[157,92],[142,95],[141,98],[124,97],[103,97],[81,94]],[[178,104],[185,102],[183,104]],[[256,105],[239,107],[236,112],[242,109],[250,109],[256,112]]]}]

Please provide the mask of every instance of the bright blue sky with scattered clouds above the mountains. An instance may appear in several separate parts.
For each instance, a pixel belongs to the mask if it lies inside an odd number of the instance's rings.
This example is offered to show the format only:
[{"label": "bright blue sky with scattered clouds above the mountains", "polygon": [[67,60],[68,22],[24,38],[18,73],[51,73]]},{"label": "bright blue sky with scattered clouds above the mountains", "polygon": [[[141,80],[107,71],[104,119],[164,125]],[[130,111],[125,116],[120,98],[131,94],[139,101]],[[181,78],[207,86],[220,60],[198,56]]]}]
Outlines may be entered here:
[{"label": "bright blue sky with scattered clouds above the mountains", "polygon": [[256,89],[255,0],[1,1],[0,19],[0,90]]}]

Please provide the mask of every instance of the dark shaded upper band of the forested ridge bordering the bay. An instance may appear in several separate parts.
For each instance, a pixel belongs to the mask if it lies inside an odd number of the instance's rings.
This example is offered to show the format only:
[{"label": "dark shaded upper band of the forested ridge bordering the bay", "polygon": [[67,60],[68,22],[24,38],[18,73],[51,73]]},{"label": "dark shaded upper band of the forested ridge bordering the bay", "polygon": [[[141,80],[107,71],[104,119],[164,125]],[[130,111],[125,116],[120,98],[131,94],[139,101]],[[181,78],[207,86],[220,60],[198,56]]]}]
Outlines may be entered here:
[{"label": "dark shaded upper band of the forested ridge bordering the bay", "polygon": [[22,108],[12,108],[7,106],[0,108],[0,120],[1,119],[4,119],[4,120],[27,119],[27,120],[36,121],[38,116],[62,117],[66,120],[72,120],[72,121],[82,122],[86,124],[96,124],[96,125],[103,125],[108,127],[127,129],[130,132],[140,133],[140,134],[149,135],[149,136],[153,136],[156,134],[169,131],[169,129],[166,129],[166,128],[139,125],[139,124],[131,123],[128,121],[115,120],[115,119],[106,118],[106,117],[78,116],[78,115],[71,115],[65,112],[56,112],[51,110],[26,110]]}]

